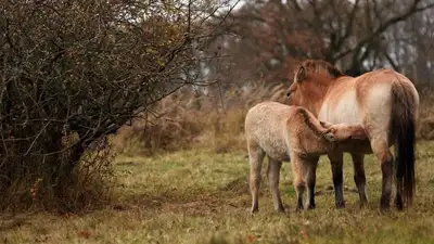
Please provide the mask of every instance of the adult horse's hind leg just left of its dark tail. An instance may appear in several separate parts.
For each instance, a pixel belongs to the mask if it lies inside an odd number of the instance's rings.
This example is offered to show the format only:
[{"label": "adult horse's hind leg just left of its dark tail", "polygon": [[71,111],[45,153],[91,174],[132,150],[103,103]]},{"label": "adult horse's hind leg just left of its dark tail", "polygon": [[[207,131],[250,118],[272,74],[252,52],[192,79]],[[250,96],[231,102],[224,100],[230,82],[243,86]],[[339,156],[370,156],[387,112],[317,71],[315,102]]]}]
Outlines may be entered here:
[{"label": "adult horse's hind leg just left of its dark tail", "polygon": [[392,169],[393,169],[393,156],[388,147],[386,140],[387,137],[375,137],[371,140],[371,146],[376,159],[381,165],[381,171],[383,175],[382,191],[381,191],[381,209],[387,210],[391,205],[392,194]]}]

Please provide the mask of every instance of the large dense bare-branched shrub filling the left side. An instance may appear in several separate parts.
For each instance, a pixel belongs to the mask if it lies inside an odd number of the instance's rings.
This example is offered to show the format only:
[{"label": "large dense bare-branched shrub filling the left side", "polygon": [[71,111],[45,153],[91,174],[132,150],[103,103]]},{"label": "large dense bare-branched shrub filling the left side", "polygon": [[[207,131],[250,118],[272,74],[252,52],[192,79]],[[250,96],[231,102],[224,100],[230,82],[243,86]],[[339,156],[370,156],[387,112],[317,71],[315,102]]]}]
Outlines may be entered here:
[{"label": "large dense bare-branched shrub filling the left side", "polygon": [[199,67],[214,56],[199,50],[220,2],[1,1],[0,209],[106,200],[111,157],[98,144],[177,89],[207,85]]}]

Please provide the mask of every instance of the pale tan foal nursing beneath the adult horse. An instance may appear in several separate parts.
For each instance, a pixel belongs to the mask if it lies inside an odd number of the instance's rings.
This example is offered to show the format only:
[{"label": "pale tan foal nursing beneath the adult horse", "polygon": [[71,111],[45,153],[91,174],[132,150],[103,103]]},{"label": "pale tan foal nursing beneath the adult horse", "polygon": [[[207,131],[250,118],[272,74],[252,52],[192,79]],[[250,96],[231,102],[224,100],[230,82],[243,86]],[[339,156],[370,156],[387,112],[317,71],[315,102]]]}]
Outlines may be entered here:
[{"label": "pale tan foal nursing beneath the adult horse", "polygon": [[252,213],[258,211],[258,191],[264,156],[268,156],[268,184],[277,211],[284,211],[279,192],[283,160],[292,162],[297,209],[303,209],[303,193],[307,184],[307,207],[315,208],[316,169],[319,156],[337,146],[337,142],[366,139],[361,126],[331,125],[319,121],[301,106],[263,102],[252,107],[245,117],[245,136],[251,164],[250,189]]}]

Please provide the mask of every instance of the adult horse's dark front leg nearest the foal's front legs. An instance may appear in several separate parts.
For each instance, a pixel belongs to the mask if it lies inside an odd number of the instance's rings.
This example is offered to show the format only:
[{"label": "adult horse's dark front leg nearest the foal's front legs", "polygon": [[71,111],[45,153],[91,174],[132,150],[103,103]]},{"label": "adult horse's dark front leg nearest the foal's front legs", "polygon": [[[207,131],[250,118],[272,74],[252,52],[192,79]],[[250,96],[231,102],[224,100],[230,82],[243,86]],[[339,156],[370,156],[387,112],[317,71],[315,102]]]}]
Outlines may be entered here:
[{"label": "adult horse's dark front leg nearest the foal's front legs", "polygon": [[344,174],[342,171],[343,163],[344,163],[344,153],[343,152],[332,152],[328,154],[330,164],[332,166],[332,175],[333,175],[333,187],[334,187],[334,197],[336,208],[345,207],[344,200]]}]

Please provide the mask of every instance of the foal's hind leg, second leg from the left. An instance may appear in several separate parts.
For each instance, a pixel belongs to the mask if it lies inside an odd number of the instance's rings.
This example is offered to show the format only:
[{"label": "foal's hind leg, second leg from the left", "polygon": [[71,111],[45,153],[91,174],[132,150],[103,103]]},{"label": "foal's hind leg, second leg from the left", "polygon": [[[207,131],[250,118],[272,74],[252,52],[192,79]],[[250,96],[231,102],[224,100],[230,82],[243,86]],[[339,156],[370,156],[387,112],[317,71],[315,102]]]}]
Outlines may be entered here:
[{"label": "foal's hind leg, second leg from the left", "polygon": [[280,178],[281,167],[282,167],[282,162],[268,157],[268,170],[267,170],[268,185],[271,191],[272,202],[275,203],[275,209],[279,213],[284,211],[282,198],[280,197],[280,191],[279,191],[279,178]]}]

